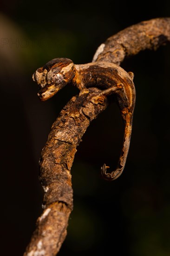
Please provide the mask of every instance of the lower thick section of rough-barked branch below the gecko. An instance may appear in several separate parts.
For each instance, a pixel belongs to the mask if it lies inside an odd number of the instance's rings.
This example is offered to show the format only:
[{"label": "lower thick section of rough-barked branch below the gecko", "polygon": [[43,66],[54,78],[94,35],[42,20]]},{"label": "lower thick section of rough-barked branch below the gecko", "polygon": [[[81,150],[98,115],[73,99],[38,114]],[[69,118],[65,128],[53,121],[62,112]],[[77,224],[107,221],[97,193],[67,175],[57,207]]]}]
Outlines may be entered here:
[{"label": "lower thick section of rough-barked branch below the gecko", "polygon": [[73,208],[71,167],[76,148],[91,121],[105,110],[108,100],[101,90],[74,96],[53,123],[40,158],[44,211],[24,256],[56,255],[65,240]]}]

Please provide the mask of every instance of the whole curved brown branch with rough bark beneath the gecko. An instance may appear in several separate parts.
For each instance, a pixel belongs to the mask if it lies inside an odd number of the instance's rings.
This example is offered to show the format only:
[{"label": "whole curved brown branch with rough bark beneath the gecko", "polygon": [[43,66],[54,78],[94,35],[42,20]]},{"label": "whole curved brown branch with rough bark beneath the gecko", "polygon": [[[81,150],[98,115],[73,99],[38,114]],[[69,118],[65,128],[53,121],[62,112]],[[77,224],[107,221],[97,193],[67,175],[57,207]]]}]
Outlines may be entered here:
[{"label": "whole curved brown branch with rough bark beneath the gecko", "polygon": [[[124,39],[129,39],[125,41]],[[143,21],[124,29],[102,44],[93,61],[120,65],[125,57],[144,49],[157,49],[170,41],[170,18]],[[116,46],[113,42],[120,42]],[[133,42],[133,43],[132,43]],[[135,44],[135,42],[138,42]],[[54,256],[65,240],[72,211],[71,167],[76,147],[90,122],[105,110],[108,99],[97,88],[80,92],[63,108],[52,125],[40,159],[40,181],[44,188],[44,211],[24,256]]]}]

